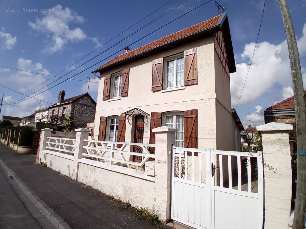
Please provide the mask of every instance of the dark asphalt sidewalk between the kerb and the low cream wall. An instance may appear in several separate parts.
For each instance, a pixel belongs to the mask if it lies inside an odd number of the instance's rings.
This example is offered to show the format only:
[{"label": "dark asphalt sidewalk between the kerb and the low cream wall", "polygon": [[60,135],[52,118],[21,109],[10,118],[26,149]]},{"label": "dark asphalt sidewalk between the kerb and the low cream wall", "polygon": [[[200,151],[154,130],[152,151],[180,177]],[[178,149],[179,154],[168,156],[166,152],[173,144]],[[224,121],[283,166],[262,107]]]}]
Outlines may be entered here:
[{"label": "dark asphalt sidewalk between the kerb and the low cream wall", "polygon": [[139,220],[87,185],[34,164],[35,156],[16,154],[0,145],[3,162],[72,228],[164,228]]}]

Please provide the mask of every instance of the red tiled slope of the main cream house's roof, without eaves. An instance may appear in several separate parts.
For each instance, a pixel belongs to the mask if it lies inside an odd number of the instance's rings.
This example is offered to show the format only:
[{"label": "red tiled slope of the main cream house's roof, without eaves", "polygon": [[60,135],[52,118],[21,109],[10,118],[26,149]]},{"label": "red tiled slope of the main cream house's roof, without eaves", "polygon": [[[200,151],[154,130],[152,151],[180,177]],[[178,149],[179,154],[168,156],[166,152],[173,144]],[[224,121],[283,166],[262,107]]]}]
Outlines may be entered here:
[{"label": "red tiled slope of the main cream house's roof, without eaves", "polygon": [[218,24],[218,21],[221,18],[221,16],[222,15],[215,16],[215,17],[213,17],[213,18],[211,18],[209,20],[200,22],[199,24],[193,25],[191,27],[188,27],[186,29],[183,29],[183,30],[178,31],[176,33],[173,33],[171,35],[168,35],[166,37],[160,38],[159,40],[151,42],[151,43],[149,43],[147,45],[141,46],[140,48],[137,48],[137,49],[134,49],[134,50],[129,51],[127,53],[123,53],[123,54],[121,54],[119,56],[116,56],[114,59],[112,59],[112,60],[106,62],[105,64],[103,64],[102,66],[98,67],[95,71],[97,71],[99,68],[103,68],[103,67],[106,67],[106,66],[108,66],[110,64],[114,64],[114,63],[116,63],[116,62],[118,62],[120,60],[123,60],[123,59],[127,58],[127,57],[136,55],[138,53],[141,53],[141,52],[147,51],[149,49],[155,48],[155,47],[157,47],[159,45],[166,44],[166,43],[174,41],[176,39],[179,39],[179,38],[185,37],[187,35],[196,33],[198,31],[207,29],[209,27],[215,26],[215,25]]}]

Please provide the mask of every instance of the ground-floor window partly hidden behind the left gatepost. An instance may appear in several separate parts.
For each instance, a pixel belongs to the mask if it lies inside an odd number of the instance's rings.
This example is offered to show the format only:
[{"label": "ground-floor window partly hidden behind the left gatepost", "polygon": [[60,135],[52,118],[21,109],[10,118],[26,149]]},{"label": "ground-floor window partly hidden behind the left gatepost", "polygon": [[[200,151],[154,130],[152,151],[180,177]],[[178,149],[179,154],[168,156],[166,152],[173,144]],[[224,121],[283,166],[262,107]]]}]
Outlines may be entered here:
[{"label": "ground-floor window partly hidden behind the left gatepost", "polygon": [[164,125],[177,129],[174,136],[175,146],[184,147],[184,113],[166,113],[164,115]]}]

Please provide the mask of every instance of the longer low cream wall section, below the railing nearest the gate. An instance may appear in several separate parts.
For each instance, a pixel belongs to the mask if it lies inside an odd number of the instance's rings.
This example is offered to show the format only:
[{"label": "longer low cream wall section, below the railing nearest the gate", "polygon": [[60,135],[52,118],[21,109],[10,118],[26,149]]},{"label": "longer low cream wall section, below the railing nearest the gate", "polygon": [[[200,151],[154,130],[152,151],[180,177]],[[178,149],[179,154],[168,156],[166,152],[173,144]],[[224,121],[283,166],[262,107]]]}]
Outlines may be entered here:
[{"label": "longer low cream wall section, below the railing nearest the gate", "polygon": [[77,180],[132,206],[154,207],[154,182],[79,163]]}]

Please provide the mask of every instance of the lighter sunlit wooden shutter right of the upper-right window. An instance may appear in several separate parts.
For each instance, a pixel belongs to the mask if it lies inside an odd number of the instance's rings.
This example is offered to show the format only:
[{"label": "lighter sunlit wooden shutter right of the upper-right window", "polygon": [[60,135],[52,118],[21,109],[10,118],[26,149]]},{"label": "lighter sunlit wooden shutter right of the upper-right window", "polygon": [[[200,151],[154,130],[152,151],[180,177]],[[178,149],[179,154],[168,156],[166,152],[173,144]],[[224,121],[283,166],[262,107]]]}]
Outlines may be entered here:
[{"label": "lighter sunlit wooden shutter right of the upper-right window", "polygon": [[185,86],[198,83],[196,48],[184,52],[185,57]]}]

